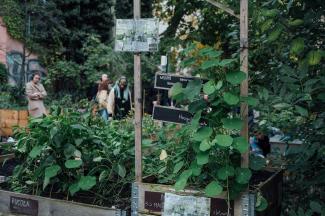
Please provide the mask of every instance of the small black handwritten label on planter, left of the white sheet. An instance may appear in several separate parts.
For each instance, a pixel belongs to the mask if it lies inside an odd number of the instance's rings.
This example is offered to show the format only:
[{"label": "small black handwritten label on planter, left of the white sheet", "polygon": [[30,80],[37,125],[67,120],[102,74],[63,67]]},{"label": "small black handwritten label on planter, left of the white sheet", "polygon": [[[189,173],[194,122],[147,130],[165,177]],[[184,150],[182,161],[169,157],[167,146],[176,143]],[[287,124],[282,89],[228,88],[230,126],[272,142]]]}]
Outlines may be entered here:
[{"label": "small black handwritten label on planter, left of the white sheet", "polygon": [[165,195],[159,192],[144,192],[144,208],[154,212],[161,212],[164,207]]}]

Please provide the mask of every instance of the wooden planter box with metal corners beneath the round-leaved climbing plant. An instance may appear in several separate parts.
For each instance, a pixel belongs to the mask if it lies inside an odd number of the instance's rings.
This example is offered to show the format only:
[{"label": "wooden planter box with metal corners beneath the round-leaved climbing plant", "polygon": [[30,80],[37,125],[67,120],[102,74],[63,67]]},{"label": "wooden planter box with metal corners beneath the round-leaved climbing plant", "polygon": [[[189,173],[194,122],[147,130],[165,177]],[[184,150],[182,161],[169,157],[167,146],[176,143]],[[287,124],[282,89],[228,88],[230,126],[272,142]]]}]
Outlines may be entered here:
[{"label": "wooden planter box with metal corners beneath the round-leaved climbing plant", "polygon": [[[236,212],[241,212],[240,215],[235,215],[234,202],[230,203],[231,215],[279,216],[281,214],[282,177],[282,171],[277,171],[269,179],[260,184],[259,189],[268,201],[268,208],[264,212],[255,211],[255,199],[257,194],[257,190],[255,190],[243,194],[241,197],[241,209],[236,209]],[[205,197],[202,192],[196,190],[176,192],[172,186],[148,183],[133,184],[131,216],[162,215],[166,194],[168,194],[169,197],[171,197],[171,194],[172,196],[177,195],[177,200],[187,200],[186,202],[191,203],[189,205],[195,205],[197,202],[198,206],[202,205],[203,202],[196,199],[203,198],[209,203],[207,206],[209,206],[208,208],[210,209],[210,216],[227,216],[228,205],[225,195],[221,195],[217,198],[209,198]]]}]

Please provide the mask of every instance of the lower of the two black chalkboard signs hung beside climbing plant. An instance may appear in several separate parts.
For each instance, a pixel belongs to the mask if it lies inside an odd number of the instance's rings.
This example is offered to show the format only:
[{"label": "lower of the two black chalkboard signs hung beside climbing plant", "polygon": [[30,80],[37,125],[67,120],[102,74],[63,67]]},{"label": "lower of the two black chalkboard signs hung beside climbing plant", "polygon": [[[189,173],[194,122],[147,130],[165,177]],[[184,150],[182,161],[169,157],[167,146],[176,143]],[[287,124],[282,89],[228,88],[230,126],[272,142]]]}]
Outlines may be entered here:
[{"label": "lower of the two black chalkboard signs hung beside climbing plant", "polygon": [[152,118],[164,122],[173,122],[179,124],[187,124],[192,120],[193,115],[185,110],[165,107],[165,106],[154,106],[152,112]]}]

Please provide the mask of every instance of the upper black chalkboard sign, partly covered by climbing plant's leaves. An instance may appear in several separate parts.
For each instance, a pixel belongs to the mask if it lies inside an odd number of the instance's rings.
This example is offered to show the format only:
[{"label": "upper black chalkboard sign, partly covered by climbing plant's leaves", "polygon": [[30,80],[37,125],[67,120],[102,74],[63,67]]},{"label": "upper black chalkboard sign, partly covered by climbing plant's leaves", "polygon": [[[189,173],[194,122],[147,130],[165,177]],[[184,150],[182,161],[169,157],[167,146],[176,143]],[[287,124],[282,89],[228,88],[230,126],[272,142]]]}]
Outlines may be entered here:
[{"label": "upper black chalkboard sign, partly covered by climbing plant's leaves", "polygon": [[168,73],[156,73],[155,88],[168,90],[171,87],[173,87],[175,83],[178,82],[182,83],[183,88],[185,88],[187,83],[194,79],[202,80],[203,83],[206,83],[208,81],[206,79],[200,79],[197,77],[180,76],[180,75],[168,74]]}]

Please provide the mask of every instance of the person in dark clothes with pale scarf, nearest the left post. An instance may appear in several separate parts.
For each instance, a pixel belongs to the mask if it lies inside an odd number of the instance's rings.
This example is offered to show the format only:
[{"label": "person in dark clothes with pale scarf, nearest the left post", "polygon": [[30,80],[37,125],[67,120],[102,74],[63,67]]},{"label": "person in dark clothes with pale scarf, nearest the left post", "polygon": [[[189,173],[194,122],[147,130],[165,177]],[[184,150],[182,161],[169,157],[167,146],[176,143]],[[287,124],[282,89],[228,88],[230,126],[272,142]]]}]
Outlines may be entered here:
[{"label": "person in dark clothes with pale scarf, nearest the left post", "polygon": [[131,92],[126,77],[122,76],[109,93],[107,110],[113,119],[122,119],[131,109]]}]

